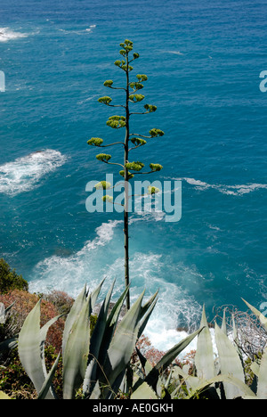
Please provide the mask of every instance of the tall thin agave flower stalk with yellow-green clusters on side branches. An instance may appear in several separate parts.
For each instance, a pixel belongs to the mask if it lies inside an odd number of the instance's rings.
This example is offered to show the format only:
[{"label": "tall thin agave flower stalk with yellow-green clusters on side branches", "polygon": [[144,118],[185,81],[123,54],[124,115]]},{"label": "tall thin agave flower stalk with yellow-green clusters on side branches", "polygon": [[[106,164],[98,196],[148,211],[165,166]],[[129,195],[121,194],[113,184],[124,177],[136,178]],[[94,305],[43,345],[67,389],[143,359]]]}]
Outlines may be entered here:
[{"label": "tall thin agave flower stalk with yellow-green clusters on side branches", "polygon": [[[125,104],[113,104],[112,98],[109,96],[104,96],[99,98],[99,102],[105,104],[108,107],[114,107],[124,110],[124,114],[117,116],[110,116],[107,125],[113,129],[125,129],[125,139],[124,141],[118,141],[115,143],[104,144],[103,139],[100,137],[92,137],[88,144],[96,146],[99,148],[106,148],[109,146],[121,146],[124,151],[122,163],[110,161],[111,155],[107,153],[100,153],[96,156],[96,159],[100,160],[103,163],[109,165],[117,165],[119,168],[119,175],[124,177],[124,188],[125,188],[125,199],[124,199],[124,248],[125,248],[125,288],[128,287],[130,282],[130,271],[129,271],[129,199],[132,198],[132,195],[129,194],[129,181],[134,178],[136,175],[148,175],[160,171],[163,167],[159,164],[150,164],[150,170],[143,172],[144,164],[141,161],[133,161],[130,158],[132,151],[144,146],[147,141],[146,139],[152,139],[158,136],[163,136],[164,132],[158,128],[150,129],[149,135],[141,135],[140,133],[133,133],[130,129],[130,121],[134,115],[140,114],[149,114],[157,110],[157,106],[152,104],[145,104],[143,106],[144,110],[142,111],[133,111],[132,108],[136,106],[137,103],[142,102],[145,98],[144,95],[140,94],[140,90],[143,88],[143,84],[147,81],[148,77],[145,74],[137,74],[137,80],[130,79],[130,73],[134,70],[132,66],[133,61],[137,60],[140,55],[139,53],[134,53],[134,44],[128,39],[125,39],[125,42],[120,44],[122,48],[119,53],[122,55],[123,59],[115,61],[117,68],[122,70],[125,73],[125,86],[113,86],[113,80],[109,79],[104,82],[104,86],[108,87],[111,90],[121,90],[125,94]],[[108,190],[110,184],[106,181],[101,181],[101,183],[96,185],[98,189]],[[150,187],[150,194],[155,194],[158,192],[156,187]],[[104,201],[113,203],[113,200],[109,195],[103,197]],[[130,292],[128,291],[126,296],[126,308],[130,309]]]}]

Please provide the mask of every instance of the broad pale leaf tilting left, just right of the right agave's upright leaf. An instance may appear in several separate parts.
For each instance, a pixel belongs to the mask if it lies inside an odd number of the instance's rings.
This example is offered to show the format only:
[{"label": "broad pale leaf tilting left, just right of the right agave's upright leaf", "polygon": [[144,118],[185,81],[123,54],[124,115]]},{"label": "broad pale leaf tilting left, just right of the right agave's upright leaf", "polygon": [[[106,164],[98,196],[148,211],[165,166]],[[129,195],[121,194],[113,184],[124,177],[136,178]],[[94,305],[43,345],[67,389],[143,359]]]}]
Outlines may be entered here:
[{"label": "broad pale leaf tilting left, just right of the right agave's upright leaf", "polygon": [[[245,383],[245,375],[241,364],[239,354],[233,347],[231,340],[223,333],[220,327],[215,324],[215,340],[220,358],[221,372],[223,375],[231,375],[236,380]],[[242,392],[237,384],[224,384],[224,390],[227,399],[241,397]]]}]

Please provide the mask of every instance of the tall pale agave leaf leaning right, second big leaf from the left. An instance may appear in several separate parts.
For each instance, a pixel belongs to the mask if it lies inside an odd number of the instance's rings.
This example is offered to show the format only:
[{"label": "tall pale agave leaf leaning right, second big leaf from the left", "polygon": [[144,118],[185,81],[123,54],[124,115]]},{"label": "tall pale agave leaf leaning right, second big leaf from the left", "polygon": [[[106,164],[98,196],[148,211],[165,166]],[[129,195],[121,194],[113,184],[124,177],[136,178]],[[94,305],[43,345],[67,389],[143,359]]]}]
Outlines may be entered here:
[{"label": "tall pale agave leaf leaning right, second big leaf from the left", "polygon": [[91,298],[88,297],[72,325],[63,356],[63,397],[72,399],[84,378],[90,343]]}]

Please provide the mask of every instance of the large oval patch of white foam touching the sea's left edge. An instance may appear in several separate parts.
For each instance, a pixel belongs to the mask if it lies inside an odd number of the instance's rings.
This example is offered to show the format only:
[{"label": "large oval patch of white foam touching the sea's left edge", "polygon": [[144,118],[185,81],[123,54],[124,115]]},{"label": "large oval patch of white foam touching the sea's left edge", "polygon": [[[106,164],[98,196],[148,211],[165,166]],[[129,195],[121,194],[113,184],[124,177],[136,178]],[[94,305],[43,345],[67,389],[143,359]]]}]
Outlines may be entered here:
[{"label": "large oval patch of white foam touching the sea's left edge", "polygon": [[0,193],[16,195],[35,188],[42,177],[67,160],[60,151],[36,151],[0,166]]}]

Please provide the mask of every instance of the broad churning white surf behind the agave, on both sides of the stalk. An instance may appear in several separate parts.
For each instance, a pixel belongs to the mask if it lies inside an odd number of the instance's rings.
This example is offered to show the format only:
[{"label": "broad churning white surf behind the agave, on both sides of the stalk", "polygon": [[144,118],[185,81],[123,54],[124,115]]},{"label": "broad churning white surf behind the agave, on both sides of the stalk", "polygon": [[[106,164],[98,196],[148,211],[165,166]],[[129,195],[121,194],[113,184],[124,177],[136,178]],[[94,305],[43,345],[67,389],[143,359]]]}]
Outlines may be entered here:
[{"label": "broad churning white surf behind the agave, on both sides of the stalk", "polygon": [[[116,279],[114,300],[124,290],[124,258],[117,257],[117,244],[121,234],[116,233],[122,221],[103,223],[95,230],[93,240],[85,242],[82,249],[69,257],[52,256],[39,262],[29,280],[31,292],[47,292],[50,290],[66,291],[72,297],[89,285],[95,288],[103,278],[105,282],[101,292],[103,297],[109,290],[111,282]],[[182,268],[182,266],[181,266]],[[159,350],[173,347],[200,323],[202,307],[193,296],[174,282],[166,282],[165,259],[158,253],[135,252],[130,260],[131,270],[131,303],[145,289],[145,300],[157,290],[158,303],[150,317],[145,335],[151,344]],[[184,274],[193,274],[184,268]],[[177,331],[177,326],[184,331]],[[186,349],[186,352],[194,345]]]}]

